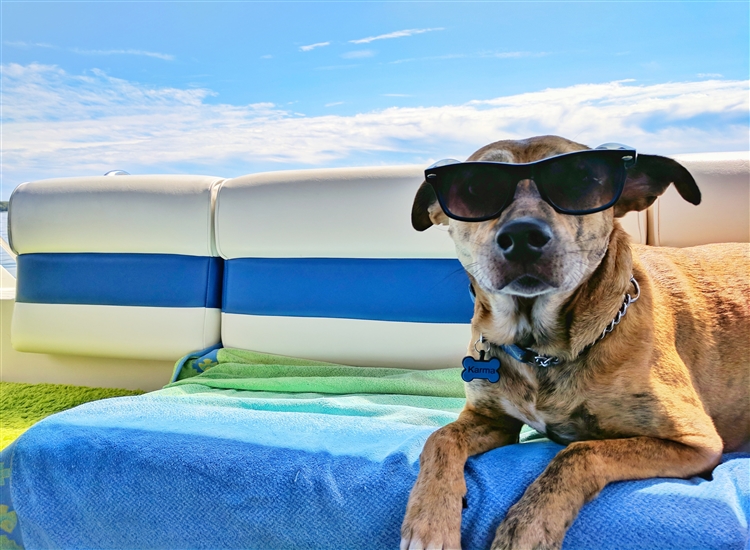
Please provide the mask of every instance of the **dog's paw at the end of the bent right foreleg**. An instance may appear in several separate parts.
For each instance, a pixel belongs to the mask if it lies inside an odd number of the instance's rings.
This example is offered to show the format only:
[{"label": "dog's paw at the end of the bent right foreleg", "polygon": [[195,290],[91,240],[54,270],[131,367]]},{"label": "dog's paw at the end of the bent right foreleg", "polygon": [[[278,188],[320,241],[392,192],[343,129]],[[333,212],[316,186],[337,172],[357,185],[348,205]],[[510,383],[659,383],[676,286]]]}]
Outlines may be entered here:
[{"label": "dog's paw at the end of the bent right foreleg", "polygon": [[[519,502],[518,504],[521,504]],[[495,532],[492,550],[559,550],[565,527],[528,508],[512,506]]]}]

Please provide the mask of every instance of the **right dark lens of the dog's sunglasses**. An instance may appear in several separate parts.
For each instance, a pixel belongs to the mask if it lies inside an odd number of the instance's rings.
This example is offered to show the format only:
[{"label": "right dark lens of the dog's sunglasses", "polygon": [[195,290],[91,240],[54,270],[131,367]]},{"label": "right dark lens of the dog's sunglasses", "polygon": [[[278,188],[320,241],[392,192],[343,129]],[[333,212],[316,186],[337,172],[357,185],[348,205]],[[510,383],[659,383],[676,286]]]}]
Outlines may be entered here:
[{"label": "right dark lens of the dog's sunglasses", "polygon": [[585,213],[611,205],[627,169],[622,155],[571,155],[537,167],[535,178],[560,210]]}]

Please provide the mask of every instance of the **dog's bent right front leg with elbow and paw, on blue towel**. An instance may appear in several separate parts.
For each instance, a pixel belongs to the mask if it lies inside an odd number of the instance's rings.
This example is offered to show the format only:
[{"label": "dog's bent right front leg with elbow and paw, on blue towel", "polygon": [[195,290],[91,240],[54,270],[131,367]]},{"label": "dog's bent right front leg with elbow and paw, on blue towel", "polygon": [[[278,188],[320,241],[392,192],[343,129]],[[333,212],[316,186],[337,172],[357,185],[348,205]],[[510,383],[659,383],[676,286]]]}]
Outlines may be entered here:
[{"label": "dog's bent right front leg with elbow and paw, on blue towel", "polygon": [[715,467],[721,451],[718,435],[690,444],[651,437],[572,443],[510,508],[492,550],[560,548],[581,507],[608,483],[686,478]]}]

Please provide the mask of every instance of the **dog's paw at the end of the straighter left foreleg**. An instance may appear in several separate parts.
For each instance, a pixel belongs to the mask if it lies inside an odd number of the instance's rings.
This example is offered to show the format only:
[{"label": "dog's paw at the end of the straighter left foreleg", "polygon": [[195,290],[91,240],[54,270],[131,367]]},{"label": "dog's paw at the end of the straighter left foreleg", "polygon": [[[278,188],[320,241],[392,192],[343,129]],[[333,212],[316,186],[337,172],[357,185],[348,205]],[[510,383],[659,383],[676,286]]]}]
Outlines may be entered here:
[{"label": "dog's paw at the end of the straighter left foreleg", "polygon": [[[416,489],[416,487],[415,487]],[[419,493],[419,491],[415,491]],[[401,525],[400,550],[460,550],[461,497],[412,494]]]}]

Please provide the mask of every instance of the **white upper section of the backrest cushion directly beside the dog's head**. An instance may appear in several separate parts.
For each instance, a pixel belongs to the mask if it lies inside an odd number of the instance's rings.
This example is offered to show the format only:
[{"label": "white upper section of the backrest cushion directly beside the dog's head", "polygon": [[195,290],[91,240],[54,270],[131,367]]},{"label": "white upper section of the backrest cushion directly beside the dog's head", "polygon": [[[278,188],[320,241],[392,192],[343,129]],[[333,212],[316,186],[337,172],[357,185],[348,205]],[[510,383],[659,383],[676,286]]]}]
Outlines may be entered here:
[{"label": "white upper section of the backrest cushion directly beside the dog's head", "polygon": [[225,259],[455,258],[442,228],[411,226],[424,166],[295,170],[225,181],[216,239]]}]

